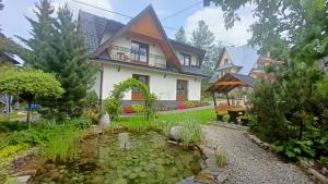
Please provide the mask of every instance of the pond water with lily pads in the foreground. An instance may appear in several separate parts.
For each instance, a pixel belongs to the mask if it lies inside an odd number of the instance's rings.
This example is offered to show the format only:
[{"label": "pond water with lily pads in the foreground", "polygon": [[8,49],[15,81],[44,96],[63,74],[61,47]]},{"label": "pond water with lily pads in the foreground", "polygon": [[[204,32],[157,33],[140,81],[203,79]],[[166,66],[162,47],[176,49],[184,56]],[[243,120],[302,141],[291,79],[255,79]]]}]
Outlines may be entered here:
[{"label": "pond water with lily pads in the foreground", "polygon": [[168,144],[155,132],[112,134],[85,139],[74,162],[46,164],[38,183],[174,184],[200,171],[197,150]]}]

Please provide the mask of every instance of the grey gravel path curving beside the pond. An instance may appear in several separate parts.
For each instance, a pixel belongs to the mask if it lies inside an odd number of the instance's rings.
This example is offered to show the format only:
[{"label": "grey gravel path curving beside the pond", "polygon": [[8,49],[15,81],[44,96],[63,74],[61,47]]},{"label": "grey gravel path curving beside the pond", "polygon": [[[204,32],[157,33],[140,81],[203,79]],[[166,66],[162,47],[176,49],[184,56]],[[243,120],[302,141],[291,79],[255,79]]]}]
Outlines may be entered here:
[{"label": "grey gravel path curving beside the pond", "polygon": [[204,126],[206,144],[226,156],[229,184],[305,184],[312,182],[296,165],[284,163],[243,135],[243,131]]}]

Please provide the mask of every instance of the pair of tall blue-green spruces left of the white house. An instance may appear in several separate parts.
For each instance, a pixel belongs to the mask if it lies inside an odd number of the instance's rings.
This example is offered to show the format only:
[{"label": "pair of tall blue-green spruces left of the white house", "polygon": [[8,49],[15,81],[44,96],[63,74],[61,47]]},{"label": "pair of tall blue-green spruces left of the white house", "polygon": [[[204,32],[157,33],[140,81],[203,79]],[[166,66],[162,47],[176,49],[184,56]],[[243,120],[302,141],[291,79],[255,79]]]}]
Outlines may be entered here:
[{"label": "pair of tall blue-green spruces left of the white house", "polygon": [[83,36],[67,5],[59,8],[57,19],[48,0],[36,5],[37,20],[27,17],[32,38],[22,39],[31,49],[26,64],[55,73],[65,89],[56,101],[45,100],[43,107],[56,108],[58,119],[82,114],[84,98],[94,82],[95,69],[89,60]]}]

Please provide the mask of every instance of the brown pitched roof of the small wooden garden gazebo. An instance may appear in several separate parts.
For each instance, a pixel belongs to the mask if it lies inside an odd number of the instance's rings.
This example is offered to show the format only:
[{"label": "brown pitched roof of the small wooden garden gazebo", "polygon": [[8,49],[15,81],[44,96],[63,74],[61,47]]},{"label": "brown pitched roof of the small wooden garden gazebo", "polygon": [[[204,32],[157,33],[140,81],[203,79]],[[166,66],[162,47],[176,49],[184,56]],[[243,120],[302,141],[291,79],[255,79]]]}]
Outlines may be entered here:
[{"label": "brown pitched roof of the small wooden garden gazebo", "polygon": [[248,86],[253,87],[256,83],[256,79],[248,75],[227,73],[215,83],[213,83],[209,88],[206,89],[206,93],[229,93],[237,86]]}]

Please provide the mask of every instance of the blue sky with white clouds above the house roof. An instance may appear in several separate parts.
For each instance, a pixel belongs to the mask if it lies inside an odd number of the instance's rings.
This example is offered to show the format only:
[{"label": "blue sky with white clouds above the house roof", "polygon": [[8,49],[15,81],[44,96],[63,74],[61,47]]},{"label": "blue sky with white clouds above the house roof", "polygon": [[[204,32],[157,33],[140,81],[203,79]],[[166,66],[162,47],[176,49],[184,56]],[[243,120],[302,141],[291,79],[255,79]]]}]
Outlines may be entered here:
[{"label": "blue sky with white clouds above the house roof", "polygon": [[[95,7],[101,7],[106,10],[119,12],[129,16],[136,16],[147,5],[152,4],[160,20],[163,20],[185,8],[192,5],[190,9],[181,13],[161,21],[163,26],[179,28],[184,26],[187,33],[191,33],[198,25],[198,21],[203,20],[211,32],[215,35],[215,42],[223,45],[241,46],[247,44],[251,33],[248,32],[249,25],[254,23],[251,16],[251,7],[247,5],[238,11],[242,21],[237,22],[232,29],[226,30],[224,27],[224,17],[220,8],[209,7],[203,8],[201,0],[78,0]],[[23,38],[28,38],[30,23],[25,16],[35,19],[34,8],[38,0],[2,0],[4,9],[0,11],[0,25],[2,33],[15,39],[15,35]],[[66,2],[72,9],[74,16],[78,16],[79,10],[84,10],[99,16],[113,19],[121,23],[127,23],[129,19],[116,15],[103,10],[91,8],[74,0],[52,0],[55,9]],[[176,30],[165,28],[168,37],[174,38]],[[190,34],[187,34],[190,36]],[[17,40],[17,39],[15,39]]]}]

